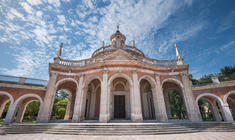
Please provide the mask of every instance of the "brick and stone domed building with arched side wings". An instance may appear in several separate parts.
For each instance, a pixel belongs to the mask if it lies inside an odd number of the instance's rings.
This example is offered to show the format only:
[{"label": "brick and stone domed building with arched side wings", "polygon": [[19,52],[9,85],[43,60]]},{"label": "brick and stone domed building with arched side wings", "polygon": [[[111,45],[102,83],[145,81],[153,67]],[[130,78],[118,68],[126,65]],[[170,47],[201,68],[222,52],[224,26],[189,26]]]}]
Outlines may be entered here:
[{"label": "brick and stone domed building with arched side wings", "polygon": [[[62,44],[54,62],[49,64],[47,85],[0,82],[0,116],[11,101],[5,123],[21,122],[28,103],[40,101],[37,122],[49,122],[56,92],[69,91],[64,120],[111,122],[130,120],[143,122],[172,120],[169,92],[177,90],[183,100],[186,121],[202,121],[199,100],[210,104],[216,121],[233,121],[235,81],[192,86],[188,78],[189,65],[184,64],[177,45],[175,60],[148,58],[136,48],[126,45],[126,37],[117,30],[110,37],[111,45],[93,52],[91,58],[64,60]],[[17,111],[18,110],[18,111]],[[18,112],[18,113],[16,113]]]}]

